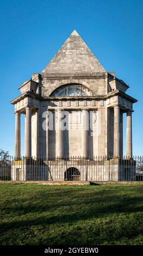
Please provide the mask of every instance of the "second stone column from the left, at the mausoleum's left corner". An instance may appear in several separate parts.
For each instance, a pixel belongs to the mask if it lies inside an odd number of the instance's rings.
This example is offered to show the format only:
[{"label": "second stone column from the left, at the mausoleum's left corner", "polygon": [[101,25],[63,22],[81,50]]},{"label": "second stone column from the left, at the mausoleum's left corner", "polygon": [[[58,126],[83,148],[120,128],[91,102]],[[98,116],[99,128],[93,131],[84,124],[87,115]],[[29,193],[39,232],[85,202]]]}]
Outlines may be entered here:
[{"label": "second stone column from the left, at the mausoleum's left corner", "polygon": [[31,108],[26,107],[25,115],[25,156],[31,156]]}]

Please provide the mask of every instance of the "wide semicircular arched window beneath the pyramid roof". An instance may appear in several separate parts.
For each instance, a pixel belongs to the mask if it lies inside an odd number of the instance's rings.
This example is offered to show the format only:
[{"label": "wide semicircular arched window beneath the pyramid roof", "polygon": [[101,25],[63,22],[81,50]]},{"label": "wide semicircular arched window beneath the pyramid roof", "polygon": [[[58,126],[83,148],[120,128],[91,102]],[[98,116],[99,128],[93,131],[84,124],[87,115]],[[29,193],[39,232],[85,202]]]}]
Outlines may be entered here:
[{"label": "wide semicircular arched window beneath the pyramid roof", "polygon": [[57,88],[50,96],[94,96],[94,93],[82,84],[72,83]]}]

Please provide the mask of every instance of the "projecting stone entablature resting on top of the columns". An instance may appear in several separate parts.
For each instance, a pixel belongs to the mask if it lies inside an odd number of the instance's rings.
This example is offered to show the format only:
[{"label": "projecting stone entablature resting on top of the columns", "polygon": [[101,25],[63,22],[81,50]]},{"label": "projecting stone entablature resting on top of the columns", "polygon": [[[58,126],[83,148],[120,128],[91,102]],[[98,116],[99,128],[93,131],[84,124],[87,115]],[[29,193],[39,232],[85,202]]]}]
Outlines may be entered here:
[{"label": "projecting stone entablature resting on top of the columns", "polygon": [[105,96],[48,96],[42,97],[32,92],[25,92],[16,97],[10,103],[15,105],[15,111],[23,111],[26,106],[32,108],[44,107],[95,107],[105,108],[120,105],[123,109],[133,110],[133,103],[137,102],[133,97],[115,90]]}]

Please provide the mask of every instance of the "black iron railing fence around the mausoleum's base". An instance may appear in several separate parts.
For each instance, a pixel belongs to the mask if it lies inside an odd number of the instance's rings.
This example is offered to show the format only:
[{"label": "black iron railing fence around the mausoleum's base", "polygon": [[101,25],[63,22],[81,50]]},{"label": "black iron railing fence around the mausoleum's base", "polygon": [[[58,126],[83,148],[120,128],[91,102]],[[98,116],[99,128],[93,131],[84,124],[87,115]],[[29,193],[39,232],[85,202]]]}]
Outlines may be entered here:
[{"label": "black iron railing fence around the mausoleum's base", "polygon": [[9,157],[0,159],[2,181],[143,181],[143,157]]}]

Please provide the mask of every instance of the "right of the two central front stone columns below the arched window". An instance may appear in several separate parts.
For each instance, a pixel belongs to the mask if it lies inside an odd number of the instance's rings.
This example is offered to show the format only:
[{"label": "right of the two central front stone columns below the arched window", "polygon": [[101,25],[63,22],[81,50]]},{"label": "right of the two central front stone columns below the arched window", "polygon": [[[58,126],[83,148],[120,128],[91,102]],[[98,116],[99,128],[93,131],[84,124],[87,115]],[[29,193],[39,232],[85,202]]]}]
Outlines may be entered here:
[{"label": "right of the two central front stone columns below the arched window", "polygon": [[82,157],[87,157],[89,117],[86,109],[82,110]]}]

